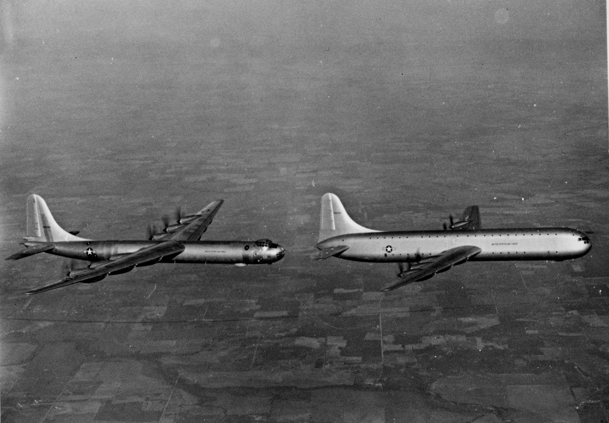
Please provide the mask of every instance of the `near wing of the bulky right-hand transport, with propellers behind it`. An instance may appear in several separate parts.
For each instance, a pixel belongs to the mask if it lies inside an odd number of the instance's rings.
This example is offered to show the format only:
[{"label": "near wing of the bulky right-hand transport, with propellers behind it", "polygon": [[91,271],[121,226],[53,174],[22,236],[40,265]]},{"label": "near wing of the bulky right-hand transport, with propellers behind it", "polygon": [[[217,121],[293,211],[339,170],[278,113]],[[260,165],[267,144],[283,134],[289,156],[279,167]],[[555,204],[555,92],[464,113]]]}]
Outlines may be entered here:
[{"label": "near wing of the bulky right-hand transport, with propellers behind it", "polygon": [[395,288],[400,288],[400,286],[408,283],[432,277],[438,272],[446,271],[454,265],[467,261],[481,251],[479,247],[462,246],[451,248],[438,255],[424,257],[421,261],[412,265],[409,270],[402,272],[400,282],[385,286],[382,291],[395,290]]}]

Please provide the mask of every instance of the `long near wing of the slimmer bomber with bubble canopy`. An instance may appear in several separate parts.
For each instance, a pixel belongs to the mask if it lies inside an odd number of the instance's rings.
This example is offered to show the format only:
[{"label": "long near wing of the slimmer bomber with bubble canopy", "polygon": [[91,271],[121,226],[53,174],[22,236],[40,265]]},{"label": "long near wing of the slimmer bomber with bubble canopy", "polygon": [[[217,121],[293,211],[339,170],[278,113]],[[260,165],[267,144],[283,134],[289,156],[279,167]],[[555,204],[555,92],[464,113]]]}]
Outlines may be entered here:
[{"label": "long near wing of the slimmer bomber with bubble canopy", "polygon": [[72,283],[97,282],[98,280],[104,279],[111,272],[132,268],[141,263],[146,263],[147,261],[160,260],[160,258],[167,255],[180,254],[184,249],[185,247],[183,244],[178,241],[164,241],[150,247],[145,247],[131,254],[124,255],[124,257],[121,257],[118,260],[107,261],[96,268],[83,269],[83,271],[76,275],[71,275],[58,282],[49,283],[49,285],[44,285],[41,288],[27,291],[26,294],[43,293],[44,291],[55,290],[62,286],[72,285]]}]

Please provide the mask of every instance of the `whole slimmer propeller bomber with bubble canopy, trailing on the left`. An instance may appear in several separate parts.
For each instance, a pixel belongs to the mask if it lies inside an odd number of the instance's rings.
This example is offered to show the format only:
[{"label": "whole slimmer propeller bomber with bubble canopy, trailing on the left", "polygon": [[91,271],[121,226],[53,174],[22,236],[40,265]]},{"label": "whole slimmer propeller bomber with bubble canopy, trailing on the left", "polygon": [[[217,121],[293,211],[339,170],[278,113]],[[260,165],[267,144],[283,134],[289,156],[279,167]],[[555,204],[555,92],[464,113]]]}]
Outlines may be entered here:
[{"label": "whole slimmer propeller bomber with bubble canopy, trailing on the left", "polygon": [[224,200],[213,201],[194,215],[177,213],[175,224],[165,217],[164,228],[152,228],[148,240],[94,241],[76,236],[78,232],[63,230],[49,211],[42,197],[27,197],[27,249],[7,257],[6,260],[46,252],[63,257],[86,260],[91,263],[72,269],[62,280],[49,283],[26,294],[38,294],[72,283],[91,283],[108,275],[126,273],[136,266],[155,263],[223,263],[236,266],[272,264],[286,254],[283,247],[270,240],[258,241],[200,241]]}]

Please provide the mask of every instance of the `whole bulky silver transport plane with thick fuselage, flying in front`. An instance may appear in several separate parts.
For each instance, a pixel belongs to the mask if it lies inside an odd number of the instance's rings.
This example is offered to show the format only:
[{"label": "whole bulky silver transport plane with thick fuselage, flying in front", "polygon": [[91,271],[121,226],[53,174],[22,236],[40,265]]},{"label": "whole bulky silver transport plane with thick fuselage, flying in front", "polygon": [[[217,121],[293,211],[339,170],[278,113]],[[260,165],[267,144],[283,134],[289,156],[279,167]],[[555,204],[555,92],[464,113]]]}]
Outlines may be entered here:
[{"label": "whole bulky silver transport plane with thick fuselage, flying in front", "polygon": [[585,233],[567,227],[482,229],[477,205],[466,208],[459,221],[450,220],[444,230],[381,232],[354,222],[339,197],[327,193],[315,258],[398,263],[400,280],[383,288],[390,291],[468,260],[562,261],[582,257],[592,247]]}]

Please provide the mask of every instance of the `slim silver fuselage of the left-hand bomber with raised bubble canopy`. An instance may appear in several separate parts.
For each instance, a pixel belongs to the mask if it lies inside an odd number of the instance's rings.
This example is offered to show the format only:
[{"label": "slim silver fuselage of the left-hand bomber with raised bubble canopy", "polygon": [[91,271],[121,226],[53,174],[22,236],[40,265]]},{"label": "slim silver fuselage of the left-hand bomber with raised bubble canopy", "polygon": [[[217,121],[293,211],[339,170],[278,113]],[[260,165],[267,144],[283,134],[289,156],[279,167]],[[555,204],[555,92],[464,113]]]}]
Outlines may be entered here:
[{"label": "slim silver fuselage of the left-hand bomber with raised bubble canopy", "polygon": [[[116,260],[122,255],[136,252],[162,241],[63,241],[53,243],[49,254],[78,260]],[[255,265],[281,260],[285,251],[278,244],[259,241],[180,241],[185,250],[175,257],[164,257],[160,263],[209,263]],[[41,244],[28,241],[26,246]]]}]

